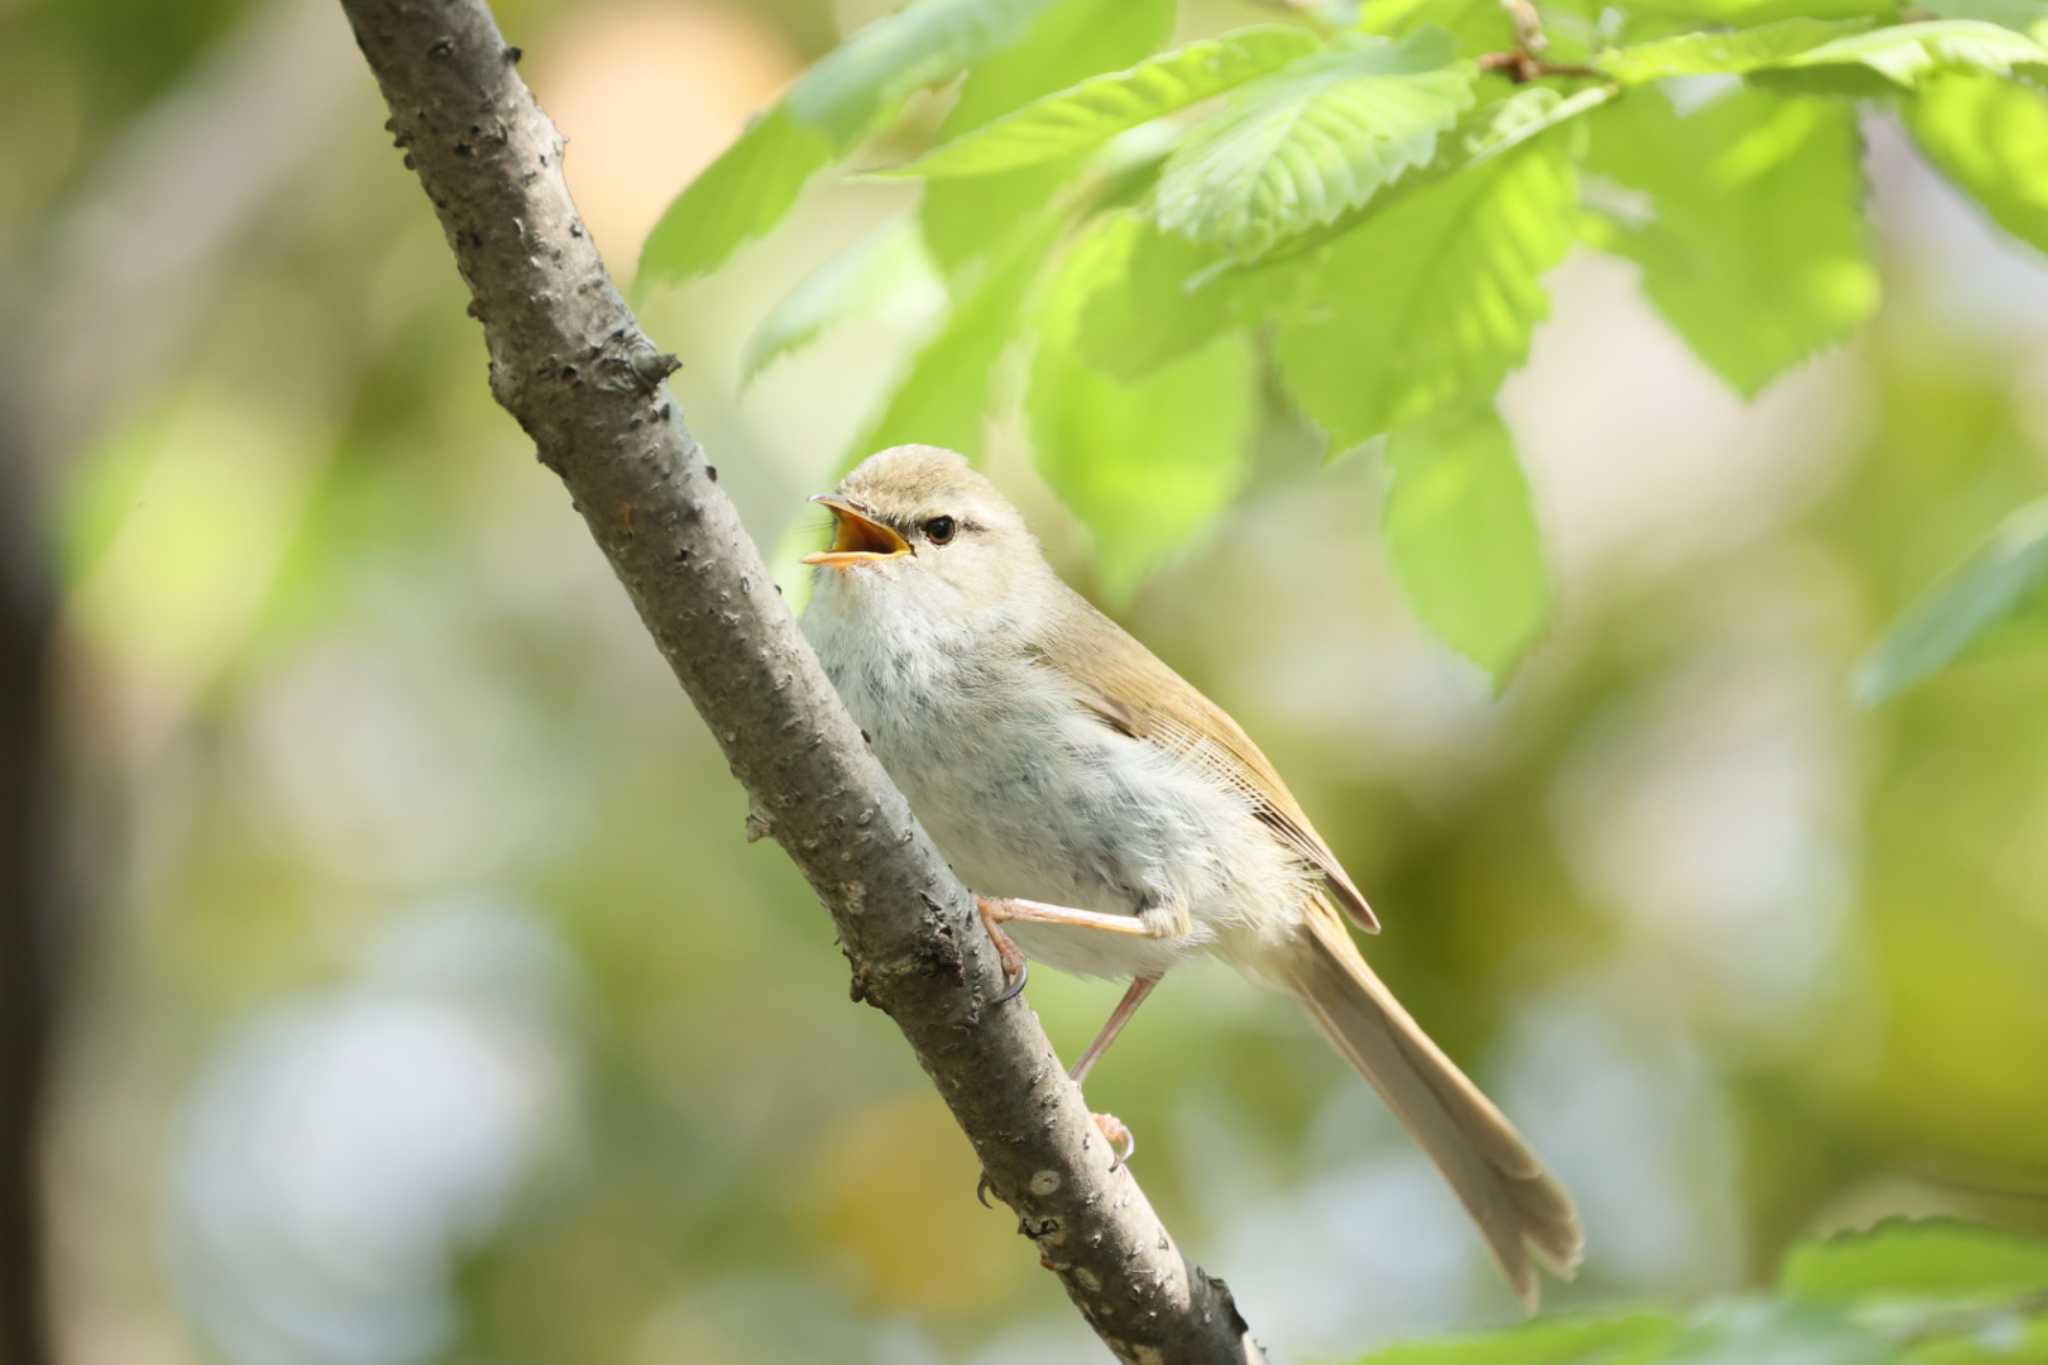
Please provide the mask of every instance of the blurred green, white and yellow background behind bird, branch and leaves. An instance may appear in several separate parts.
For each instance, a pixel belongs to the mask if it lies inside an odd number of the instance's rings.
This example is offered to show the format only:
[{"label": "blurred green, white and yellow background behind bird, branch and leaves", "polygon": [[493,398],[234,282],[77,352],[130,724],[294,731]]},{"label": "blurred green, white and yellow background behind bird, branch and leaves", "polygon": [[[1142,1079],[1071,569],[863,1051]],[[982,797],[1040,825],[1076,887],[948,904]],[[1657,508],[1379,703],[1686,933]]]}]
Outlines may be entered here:
[{"label": "blurred green, white and yellow background behind bird, branch and leaves", "polygon": [[[621,276],[883,8],[498,4]],[[76,1365],[1096,1359],[492,405],[383,119],[330,0],[0,0],[0,1304],[47,1279]],[[1507,413],[1561,612],[1501,700],[1401,606],[1376,463],[1278,411],[1120,608],[1577,1191],[1567,1310],[1741,1291],[1884,1214],[2048,1232],[2048,655],[1849,694],[2048,491],[2048,268],[1882,121],[1868,170],[1886,307],[1753,405],[1630,266],[1556,272]],[[762,544],[821,534],[803,495],[936,299],[745,391],[739,350],[909,194],[821,184],[643,313]],[[1116,995],[1030,986],[1069,1054]],[[1288,1001],[1178,974],[1092,1097],[1276,1359],[1513,1316]]]}]

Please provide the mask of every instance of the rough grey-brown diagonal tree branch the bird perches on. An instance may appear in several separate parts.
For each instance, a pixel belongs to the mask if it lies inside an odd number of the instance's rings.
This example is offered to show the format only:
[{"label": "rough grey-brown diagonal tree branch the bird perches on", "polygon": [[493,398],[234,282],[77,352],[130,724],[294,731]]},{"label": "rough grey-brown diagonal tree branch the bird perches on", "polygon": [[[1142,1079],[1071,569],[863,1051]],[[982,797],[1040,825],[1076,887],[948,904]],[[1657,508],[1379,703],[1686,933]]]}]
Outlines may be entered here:
[{"label": "rough grey-brown diagonal tree branch the bird perches on", "polygon": [[[754,810],[831,911],[854,999],[938,1085],[1018,1230],[1124,1361],[1257,1363],[1024,1003],[967,888],[866,751],[569,203],[563,139],[483,0],[342,0],[483,323],[492,391],[567,485]],[[969,1197],[969,1191],[961,1191]]]}]

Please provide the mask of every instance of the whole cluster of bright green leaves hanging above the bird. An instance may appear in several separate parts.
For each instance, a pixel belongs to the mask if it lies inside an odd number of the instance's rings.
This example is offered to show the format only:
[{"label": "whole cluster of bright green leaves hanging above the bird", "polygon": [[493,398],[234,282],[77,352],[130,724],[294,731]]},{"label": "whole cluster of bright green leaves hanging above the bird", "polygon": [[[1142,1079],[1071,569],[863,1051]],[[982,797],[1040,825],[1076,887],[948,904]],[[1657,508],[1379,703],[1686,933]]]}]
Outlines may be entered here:
[{"label": "whole cluster of bright green leaves hanging above the bird", "polygon": [[[1591,31],[1573,23],[1585,18],[1575,6],[1559,6],[1561,41],[1530,37],[1542,59],[1503,47],[1522,39],[1513,25],[1501,31],[1505,10],[1493,4],[1481,14],[1468,0],[1368,8],[1356,20],[1303,10],[1292,31],[1251,25],[1149,55],[1165,35],[1153,0],[911,4],[807,72],[676,199],[647,239],[641,278],[676,282],[717,266],[918,86],[965,72],[938,147],[895,174],[926,180],[918,223],[942,274],[987,260],[991,278],[963,293],[848,458],[911,438],[979,454],[983,422],[1006,407],[979,377],[1028,342],[1038,469],[1096,532],[1104,591],[1126,600],[1153,563],[1223,514],[1235,481],[1208,475],[1219,446],[1241,444],[1241,424],[1202,405],[1245,387],[1243,360],[1231,360],[1245,352],[1210,346],[1210,362],[1143,366],[1143,383],[1130,360],[1061,364],[1083,313],[1114,315],[1114,340],[1098,350],[1124,356],[1270,327],[1278,379],[1333,452],[1376,436],[1419,444],[1440,413],[1491,401],[1522,364],[1548,311],[1540,278],[1585,239],[1636,262],[1663,317],[1753,397],[1878,307],[1855,123],[1858,100],[1872,98],[1901,104],[1956,184],[2048,250],[2032,203],[2048,94],[2028,84],[2048,76],[2048,47],[2032,33],[2048,33],[2048,20],[2028,6],[1927,20],[1898,0],[1825,16],[1653,4],[1606,10]],[[1540,25],[1540,10],[1530,14]],[[1702,27],[1671,33],[1686,23]],[[1577,94],[1518,92],[1489,80],[1495,72]],[[1712,78],[1747,88],[1683,111],[1655,90]],[[1208,96],[1223,98],[1206,115],[1155,123]],[[1139,143],[1118,192],[1102,194],[1090,153],[1137,127],[1157,135]],[[1581,164],[1647,201],[1647,215],[1581,207]],[[1036,231],[1022,256],[999,250],[1018,239],[1020,219],[1065,221],[1065,264]],[[860,270],[893,268],[868,256],[854,248],[829,272],[842,295],[856,293]],[[1051,282],[1034,289],[1040,272]],[[1276,289],[1274,272],[1288,282]],[[1122,301],[1141,280],[1143,303]],[[803,313],[809,293],[788,307]],[[1100,370],[1112,379],[1096,383]],[[1128,413],[1161,411],[1186,411],[1190,428],[1214,436],[1159,434],[1200,491],[1135,522],[1130,499],[1104,489],[1159,485]],[[1473,557],[1460,542],[1475,522],[1530,524],[1520,485],[1473,497],[1487,501],[1411,524],[1401,544],[1409,563],[1458,563],[1454,596],[1466,608],[1448,612],[1442,596],[1415,606],[1430,624],[1456,620],[1440,630],[1446,643],[1505,681],[1538,634],[1528,604],[1542,600],[1542,565]],[[1503,512],[1503,497],[1524,505]],[[1444,544],[1423,544],[1432,536]],[[1423,579],[1403,571],[1403,581]]]}]

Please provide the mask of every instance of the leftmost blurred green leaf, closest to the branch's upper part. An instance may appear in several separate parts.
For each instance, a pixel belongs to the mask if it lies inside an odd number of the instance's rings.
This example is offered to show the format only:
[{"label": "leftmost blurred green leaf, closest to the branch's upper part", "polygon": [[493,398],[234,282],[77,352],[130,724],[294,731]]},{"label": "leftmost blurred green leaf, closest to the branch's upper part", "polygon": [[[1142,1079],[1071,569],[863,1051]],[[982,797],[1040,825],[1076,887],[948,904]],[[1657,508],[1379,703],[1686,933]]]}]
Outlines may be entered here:
[{"label": "leftmost blurred green leaf, closest to the branch's upper part", "polygon": [[635,291],[713,270],[741,241],[780,223],[803,184],[838,153],[831,137],[797,123],[786,106],[750,123],[647,233]]}]

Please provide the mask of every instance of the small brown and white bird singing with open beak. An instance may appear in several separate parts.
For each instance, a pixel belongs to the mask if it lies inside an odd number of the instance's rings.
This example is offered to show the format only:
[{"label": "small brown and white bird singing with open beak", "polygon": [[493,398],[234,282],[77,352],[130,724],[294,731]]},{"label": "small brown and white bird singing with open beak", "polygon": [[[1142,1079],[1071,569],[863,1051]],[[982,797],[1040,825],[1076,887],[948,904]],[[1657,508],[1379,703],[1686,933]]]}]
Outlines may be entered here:
[{"label": "small brown and white bird singing with open beak", "polygon": [[1130,982],[1079,1083],[1180,962],[1292,995],[1534,1312],[1538,1267],[1569,1279],[1583,1254],[1573,1199],[1366,964],[1352,925],[1378,917],[1245,731],[1073,591],[961,454],[891,446],[813,501],[834,538],[803,561],[803,632],[973,888],[1012,978],[999,999],[1026,958]]}]

